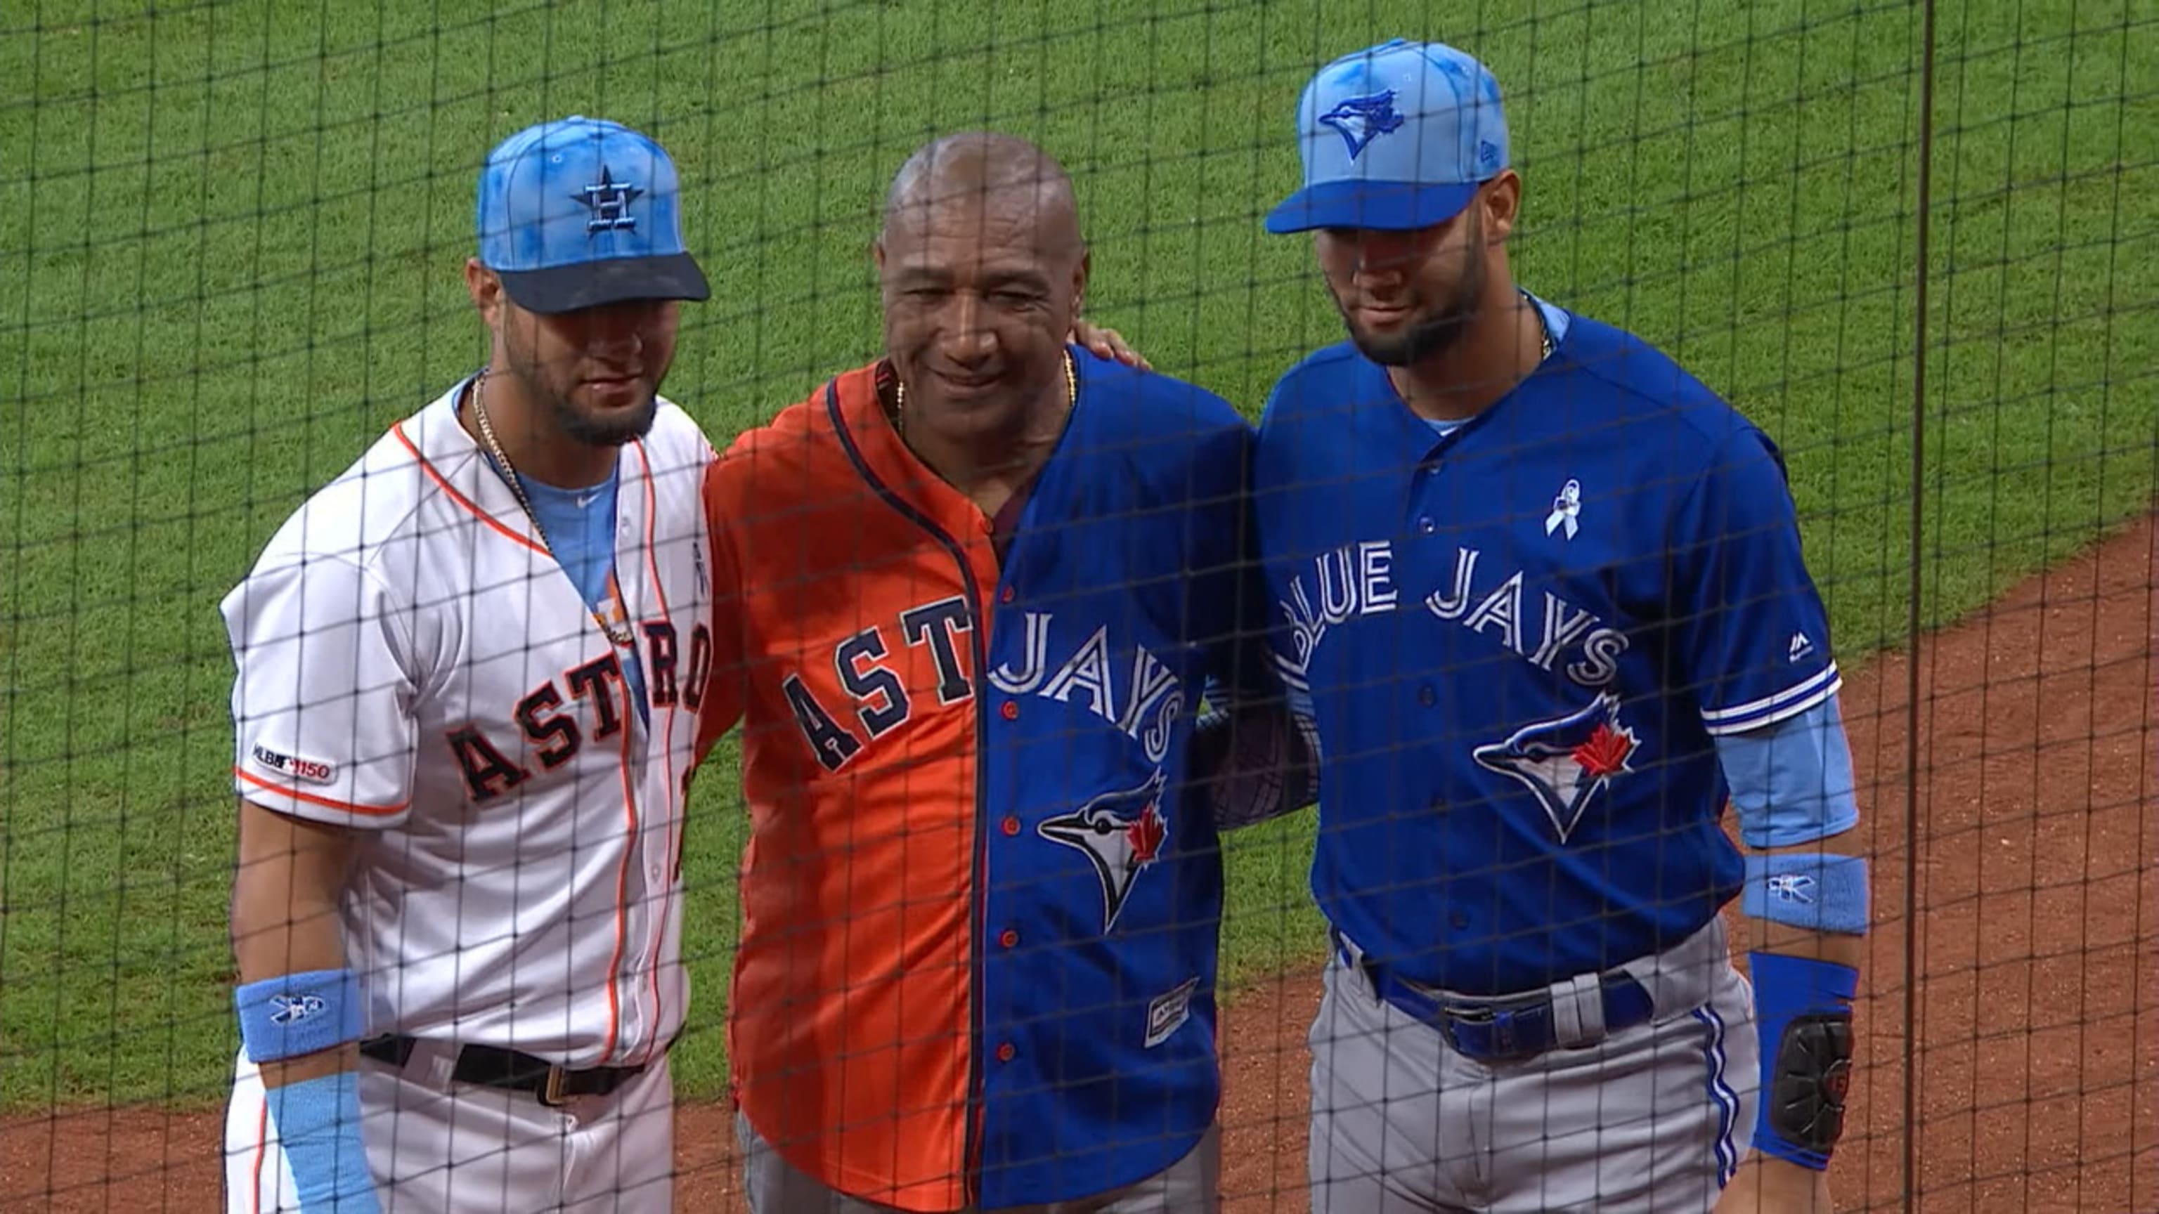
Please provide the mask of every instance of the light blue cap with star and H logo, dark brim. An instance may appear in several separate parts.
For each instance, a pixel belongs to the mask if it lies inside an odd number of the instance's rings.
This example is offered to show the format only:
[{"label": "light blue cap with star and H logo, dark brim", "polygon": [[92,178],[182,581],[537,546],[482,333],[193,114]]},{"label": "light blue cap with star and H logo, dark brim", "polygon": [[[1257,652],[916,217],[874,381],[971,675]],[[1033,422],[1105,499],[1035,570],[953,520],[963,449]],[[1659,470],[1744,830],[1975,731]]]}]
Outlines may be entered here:
[{"label": "light blue cap with star and H logo, dark brim", "polygon": [[479,264],[538,313],[710,298],[682,246],[680,194],[667,151],[622,123],[525,127],[479,173]]}]

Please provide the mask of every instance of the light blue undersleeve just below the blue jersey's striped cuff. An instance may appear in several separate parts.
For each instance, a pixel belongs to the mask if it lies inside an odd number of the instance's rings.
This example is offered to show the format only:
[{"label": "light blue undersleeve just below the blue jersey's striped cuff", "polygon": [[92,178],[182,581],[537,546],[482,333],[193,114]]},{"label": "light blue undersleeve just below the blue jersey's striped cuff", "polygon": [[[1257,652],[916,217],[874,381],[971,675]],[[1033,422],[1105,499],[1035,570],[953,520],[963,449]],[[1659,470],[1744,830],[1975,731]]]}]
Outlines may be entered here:
[{"label": "light blue undersleeve just below the blue jersey's striped cuff", "polygon": [[1716,734],[1716,758],[1747,847],[1792,847],[1859,825],[1852,747],[1835,696],[1773,726]]}]

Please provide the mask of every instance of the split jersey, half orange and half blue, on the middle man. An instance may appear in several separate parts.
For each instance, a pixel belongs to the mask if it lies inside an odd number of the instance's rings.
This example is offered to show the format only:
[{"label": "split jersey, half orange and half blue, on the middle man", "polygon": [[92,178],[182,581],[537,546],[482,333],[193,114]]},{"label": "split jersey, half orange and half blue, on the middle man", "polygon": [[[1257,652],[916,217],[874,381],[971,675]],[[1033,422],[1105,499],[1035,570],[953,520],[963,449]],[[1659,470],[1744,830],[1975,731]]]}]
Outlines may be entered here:
[{"label": "split jersey, half orange and half blue, on the middle man", "polygon": [[[1103,1192],[1216,1112],[1216,827],[1187,784],[1235,633],[1250,426],[1075,350],[1000,564],[900,443],[877,367],[715,464],[706,743],[751,814],[730,1050],[743,1112],[905,1210]],[[730,702],[728,698],[736,698]]]}]

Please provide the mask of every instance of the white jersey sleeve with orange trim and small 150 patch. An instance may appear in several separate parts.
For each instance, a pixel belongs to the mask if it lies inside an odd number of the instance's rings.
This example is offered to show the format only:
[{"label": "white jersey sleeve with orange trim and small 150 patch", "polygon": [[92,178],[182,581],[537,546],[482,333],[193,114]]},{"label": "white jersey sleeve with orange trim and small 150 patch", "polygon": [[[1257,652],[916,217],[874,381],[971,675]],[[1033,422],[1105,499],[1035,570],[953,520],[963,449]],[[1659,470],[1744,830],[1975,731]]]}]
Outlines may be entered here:
[{"label": "white jersey sleeve with orange trim and small 150 patch", "polygon": [[419,683],[410,613],[382,577],[339,555],[274,551],[222,611],[237,665],[237,793],[320,823],[402,823]]}]

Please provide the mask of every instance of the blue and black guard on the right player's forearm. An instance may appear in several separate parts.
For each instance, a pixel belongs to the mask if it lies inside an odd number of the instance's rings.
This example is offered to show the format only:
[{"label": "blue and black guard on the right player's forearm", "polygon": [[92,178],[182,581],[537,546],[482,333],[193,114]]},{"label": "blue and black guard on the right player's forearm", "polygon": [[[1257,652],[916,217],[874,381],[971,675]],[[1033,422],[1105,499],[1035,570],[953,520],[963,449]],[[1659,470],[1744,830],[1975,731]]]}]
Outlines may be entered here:
[{"label": "blue and black guard on the right player's forearm", "polygon": [[1749,953],[1762,1095],[1755,1149],[1827,1171],[1844,1136],[1852,1084],[1852,996],[1859,970],[1835,961]]}]

